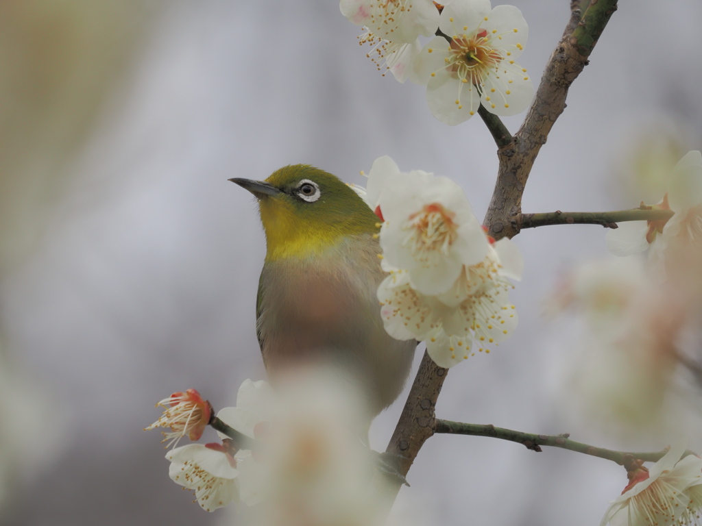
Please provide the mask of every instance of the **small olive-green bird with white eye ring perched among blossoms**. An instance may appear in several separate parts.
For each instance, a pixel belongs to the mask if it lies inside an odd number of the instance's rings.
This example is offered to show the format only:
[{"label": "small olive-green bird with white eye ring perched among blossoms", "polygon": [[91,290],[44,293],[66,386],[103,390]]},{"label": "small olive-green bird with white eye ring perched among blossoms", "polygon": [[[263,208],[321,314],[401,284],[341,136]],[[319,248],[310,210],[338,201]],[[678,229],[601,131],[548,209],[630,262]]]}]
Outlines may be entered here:
[{"label": "small olive-green bird with white eye ring perched among blossoms", "polygon": [[269,377],[298,365],[342,367],[374,417],[402,391],[417,345],[383,328],[378,217],[338,177],[312,166],[230,181],[256,196],[265,231],[256,333]]}]

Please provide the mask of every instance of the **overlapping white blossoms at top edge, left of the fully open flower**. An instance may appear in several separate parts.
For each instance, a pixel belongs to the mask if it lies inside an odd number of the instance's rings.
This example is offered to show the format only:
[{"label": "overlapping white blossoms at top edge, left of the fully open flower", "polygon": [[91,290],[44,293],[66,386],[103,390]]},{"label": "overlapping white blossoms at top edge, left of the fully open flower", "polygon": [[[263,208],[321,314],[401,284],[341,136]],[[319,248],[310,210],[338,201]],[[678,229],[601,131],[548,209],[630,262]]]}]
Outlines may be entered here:
[{"label": "overlapping white blossoms at top edge, left of the fully open flower", "polygon": [[364,27],[359,43],[379,70],[390,69],[400,82],[418,82],[413,61],[420,52],[418,36],[435,34],[439,11],[431,0],[340,0],[341,13]]}]

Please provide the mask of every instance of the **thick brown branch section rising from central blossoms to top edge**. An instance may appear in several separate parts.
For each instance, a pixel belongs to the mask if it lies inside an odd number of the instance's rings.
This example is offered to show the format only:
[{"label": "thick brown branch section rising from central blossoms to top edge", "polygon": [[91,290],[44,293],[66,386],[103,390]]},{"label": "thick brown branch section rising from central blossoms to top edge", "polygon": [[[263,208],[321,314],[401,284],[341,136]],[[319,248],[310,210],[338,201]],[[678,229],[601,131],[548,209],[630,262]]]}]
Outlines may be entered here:
[{"label": "thick brown branch section rising from central blossoms to top edge", "polygon": [[[531,167],[553,124],[566,107],[571,83],[588,64],[588,55],[615,9],[616,0],[598,0],[588,6],[573,32],[569,32],[572,27],[569,22],[546,65],[522,128],[510,144],[498,149],[500,169],[484,220],[490,236],[511,238],[519,233],[515,218],[522,212],[522,194]],[[575,11],[577,9],[571,12],[572,19],[576,17]]]}]

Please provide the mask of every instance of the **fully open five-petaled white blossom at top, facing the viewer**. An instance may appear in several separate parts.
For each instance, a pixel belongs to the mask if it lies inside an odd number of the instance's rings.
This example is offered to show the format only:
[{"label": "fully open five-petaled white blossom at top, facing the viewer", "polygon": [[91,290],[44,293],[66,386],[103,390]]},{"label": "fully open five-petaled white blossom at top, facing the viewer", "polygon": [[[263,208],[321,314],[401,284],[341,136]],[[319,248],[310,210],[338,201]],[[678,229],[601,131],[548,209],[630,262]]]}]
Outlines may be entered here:
[{"label": "fully open five-petaled white blossom at top, facing the viewer", "polygon": [[439,29],[451,41],[436,36],[416,60],[429,108],[439,121],[451,126],[467,121],[480,104],[500,116],[527,108],[534,86],[515,59],[529,27],[518,8],[453,0],[440,15]]}]

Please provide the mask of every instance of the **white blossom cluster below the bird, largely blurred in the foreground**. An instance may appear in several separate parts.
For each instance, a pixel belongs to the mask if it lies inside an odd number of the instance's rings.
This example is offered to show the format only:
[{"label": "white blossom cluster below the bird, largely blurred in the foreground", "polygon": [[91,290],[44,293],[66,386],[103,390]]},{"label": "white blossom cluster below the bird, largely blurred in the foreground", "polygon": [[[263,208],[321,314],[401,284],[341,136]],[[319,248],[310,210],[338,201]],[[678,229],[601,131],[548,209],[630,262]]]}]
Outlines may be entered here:
[{"label": "white blossom cluster below the bird, largely blurred in the foreground", "polygon": [[[357,393],[340,387],[327,370],[289,378],[278,391],[246,380],[236,407],[217,414],[244,438],[218,431],[216,443],[176,447],[166,454],[168,474],[206,511],[250,506],[247,515],[256,525],[376,524],[381,501],[369,489],[376,468],[359,440],[367,417],[361,407]],[[187,436],[202,421],[187,429],[180,423],[164,412],[154,426],[174,426]]]}]

